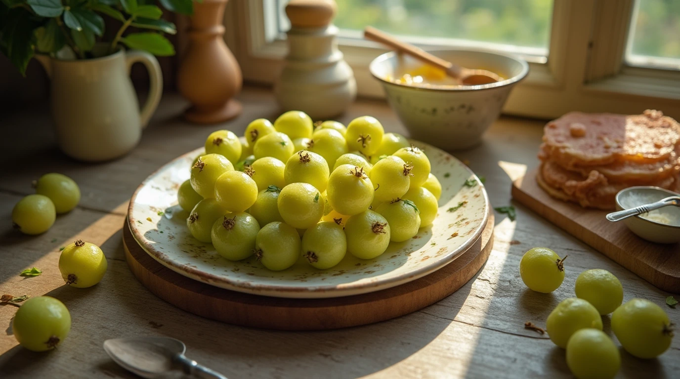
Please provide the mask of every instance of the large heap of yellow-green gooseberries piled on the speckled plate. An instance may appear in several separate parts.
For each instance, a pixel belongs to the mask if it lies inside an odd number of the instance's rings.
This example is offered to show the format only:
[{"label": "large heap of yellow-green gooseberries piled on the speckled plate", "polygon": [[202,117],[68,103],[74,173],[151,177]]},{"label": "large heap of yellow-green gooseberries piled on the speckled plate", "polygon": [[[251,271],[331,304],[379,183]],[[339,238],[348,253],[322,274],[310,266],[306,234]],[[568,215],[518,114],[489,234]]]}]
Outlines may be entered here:
[{"label": "large heap of yellow-green gooseberries piled on the speckled plate", "polygon": [[378,257],[437,217],[441,184],[428,157],[371,116],[345,128],[289,111],[254,120],[243,137],[211,133],[177,192],[192,236],[226,259],[324,270],[348,252]]}]

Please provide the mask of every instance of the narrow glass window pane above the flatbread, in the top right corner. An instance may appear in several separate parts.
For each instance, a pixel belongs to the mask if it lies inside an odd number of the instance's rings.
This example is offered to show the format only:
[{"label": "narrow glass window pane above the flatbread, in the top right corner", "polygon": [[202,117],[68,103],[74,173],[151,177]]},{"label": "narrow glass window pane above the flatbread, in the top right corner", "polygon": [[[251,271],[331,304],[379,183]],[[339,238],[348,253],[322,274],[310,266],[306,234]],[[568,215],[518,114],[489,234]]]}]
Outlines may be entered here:
[{"label": "narrow glass window pane above the flatbread, in the top right corner", "polygon": [[680,69],[680,1],[636,1],[626,60],[632,65]]}]

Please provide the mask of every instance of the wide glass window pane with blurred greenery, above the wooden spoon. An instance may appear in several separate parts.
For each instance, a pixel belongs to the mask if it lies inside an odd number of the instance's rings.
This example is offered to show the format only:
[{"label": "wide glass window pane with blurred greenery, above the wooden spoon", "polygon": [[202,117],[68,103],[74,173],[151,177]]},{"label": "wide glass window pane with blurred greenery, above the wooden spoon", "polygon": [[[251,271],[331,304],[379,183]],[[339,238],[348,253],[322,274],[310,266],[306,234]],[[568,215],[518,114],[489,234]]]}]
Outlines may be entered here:
[{"label": "wide glass window pane with blurred greenery, above the wooden spoon", "polygon": [[[279,0],[282,7],[286,0]],[[553,0],[336,0],[335,25],[360,37],[371,25],[395,35],[483,41],[546,55]],[[285,19],[285,14],[283,14]],[[279,20],[286,31],[290,24]],[[512,50],[506,49],[506,50]],[[521,50],[521,49],[520,49]],[[526,50],[526,49],[524,49]]]}]

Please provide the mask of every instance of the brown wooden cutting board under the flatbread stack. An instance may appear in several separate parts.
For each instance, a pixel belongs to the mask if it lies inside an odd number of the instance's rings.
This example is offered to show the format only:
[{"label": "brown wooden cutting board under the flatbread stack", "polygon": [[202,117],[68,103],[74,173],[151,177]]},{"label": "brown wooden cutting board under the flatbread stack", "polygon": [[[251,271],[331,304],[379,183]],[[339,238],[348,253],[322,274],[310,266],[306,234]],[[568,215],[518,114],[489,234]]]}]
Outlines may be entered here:
[{"label": "brown wooden cutting board under the flatbread stack", "polygon": [[536,182],[537,172],[538,168],[513,183],[515,200],[652,285],[680,293],[680,244],[648,242],[630,232],[624,223],[607,221],[607,211],[583,209],[551,198]]}]

